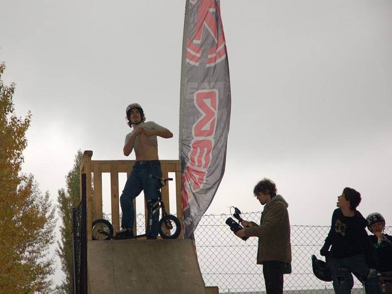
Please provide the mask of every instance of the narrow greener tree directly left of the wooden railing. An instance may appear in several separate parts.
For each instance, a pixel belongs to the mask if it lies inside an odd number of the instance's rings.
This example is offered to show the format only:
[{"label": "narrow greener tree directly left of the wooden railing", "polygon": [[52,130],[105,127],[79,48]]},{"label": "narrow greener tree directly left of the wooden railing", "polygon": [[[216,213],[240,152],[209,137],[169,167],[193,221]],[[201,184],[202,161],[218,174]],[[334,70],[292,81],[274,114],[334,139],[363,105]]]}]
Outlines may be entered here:
[{"label": "narrow greener tree directly left of the wooden railing", "polygon": [[57,202],[59,214],[62,219],[60,227],[61,241],[57,242],[57,255],[61,260],[61,269],[65,274],[63,283],[56,287],[59,294],[72,294],[73,288],[73,246],[72,246],[72,216],[73,208],[80,203],[80,162],[83,153],[77,150],[73,168],[66,176],[67,191],[64,188],[58,191]]}]

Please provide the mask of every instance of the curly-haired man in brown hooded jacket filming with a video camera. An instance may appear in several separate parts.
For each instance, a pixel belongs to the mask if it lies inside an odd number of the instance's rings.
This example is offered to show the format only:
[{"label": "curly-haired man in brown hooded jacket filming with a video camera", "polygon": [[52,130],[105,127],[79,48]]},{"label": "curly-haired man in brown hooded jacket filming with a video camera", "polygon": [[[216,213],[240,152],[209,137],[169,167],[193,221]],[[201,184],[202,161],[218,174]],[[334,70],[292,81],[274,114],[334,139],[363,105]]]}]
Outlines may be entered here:
[{"label": "curly-haired man in brown hooded jacket filming with a video camera", "polygon": [[283,273],[291,264],[289,204],[276,192],[275,183],[268,178],[256,184],[254,196],[264,205],[260,225],[242,221],[245,228],[236,233],[240,238],[259,237],[257,264],[263,265],[267,294],[283,293]]}]

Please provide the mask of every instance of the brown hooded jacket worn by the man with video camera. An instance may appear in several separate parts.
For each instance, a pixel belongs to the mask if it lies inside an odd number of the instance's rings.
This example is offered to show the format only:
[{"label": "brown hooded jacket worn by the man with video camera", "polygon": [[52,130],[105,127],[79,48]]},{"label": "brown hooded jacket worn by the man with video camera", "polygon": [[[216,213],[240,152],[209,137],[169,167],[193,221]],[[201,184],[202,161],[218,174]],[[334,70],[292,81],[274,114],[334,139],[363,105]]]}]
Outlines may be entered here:
[{"label": "brown hooded jacket worn by the man with video camera", "polygon": [[259,237],[257,264],[272,260],[291,263],[288,206],[282,196],[272,197],[264,206],[260,225],[253,223],[254,226],[245,228],[245,236]]}]

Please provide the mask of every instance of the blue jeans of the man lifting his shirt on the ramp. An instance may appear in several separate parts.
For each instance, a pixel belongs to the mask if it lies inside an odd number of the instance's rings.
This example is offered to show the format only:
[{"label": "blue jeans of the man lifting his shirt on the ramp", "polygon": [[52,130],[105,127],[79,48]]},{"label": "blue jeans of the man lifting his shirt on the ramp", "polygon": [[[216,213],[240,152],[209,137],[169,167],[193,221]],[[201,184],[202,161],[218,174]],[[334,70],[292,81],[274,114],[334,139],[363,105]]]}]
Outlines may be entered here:
[{"label": "blue jeans of the man lifting his shirt on the ramp", "polygon": [[[157,161],[153,161],[157,162]],[[157,179],[150,178],[150,174],[162,177],[161,165],[159,162],[155,164],[135,164],[132,172],[126,180],[123,194],[120,197],[121,210],[123,211],[123,219],[121,221],[121,227],[129,227],[133,229],[133,223],[135,222],[135,209],[133,207],[133,199],[144,191],[146,201],[152,200],[153,202],[158,200],[158,185]],[[158,236],[158,221],[159,221],[159,210],[152,217],[152,230],[148,231],[147,236],[156,237]]]}]

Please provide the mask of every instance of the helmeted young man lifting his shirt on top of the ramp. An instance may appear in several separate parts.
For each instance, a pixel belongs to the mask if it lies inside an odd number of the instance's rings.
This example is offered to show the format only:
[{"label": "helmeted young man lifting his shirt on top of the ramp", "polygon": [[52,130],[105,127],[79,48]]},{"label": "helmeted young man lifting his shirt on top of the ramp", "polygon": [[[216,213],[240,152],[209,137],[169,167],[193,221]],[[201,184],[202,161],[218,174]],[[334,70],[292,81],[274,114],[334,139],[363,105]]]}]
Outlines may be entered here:
[{"label": "helmeted young man lifting his shirt on top of the ramp", "polygon": [[[133,130],[125,136],[123,153],[128,156],[132,150],[135,150],[136,162],[120,197],[121,210],[123,211],[122,229],[116,234],[115,239],[126,239],[134,235],[135,210],[133,199],[142,191],[144,191],[147,201],[147,222],[152,223],[151,230],[147,226],[147,239],[156,239],[159,220],[159,209],[156,209],[158,205],[158,183],[156,179],[150,178],[149,175],[162,177],[161,164],[158,159],[157,136],[167,139],[172,138],[173,134],[157,123],[145,122],[146,117],[143,108],[138,103],[129,104],[125,113],[128,125]],[[150,211],[153,212],[151,220],[149,219]]]}]

